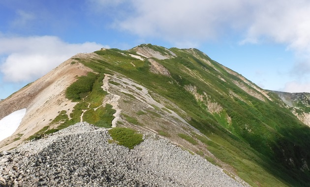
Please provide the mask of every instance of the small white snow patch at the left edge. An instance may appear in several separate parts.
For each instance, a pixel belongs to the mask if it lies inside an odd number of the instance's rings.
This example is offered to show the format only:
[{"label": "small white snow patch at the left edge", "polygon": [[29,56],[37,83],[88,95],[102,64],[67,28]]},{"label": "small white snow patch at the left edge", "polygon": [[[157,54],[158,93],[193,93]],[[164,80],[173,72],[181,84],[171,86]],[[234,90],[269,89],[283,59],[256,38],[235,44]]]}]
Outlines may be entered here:
[{"label": "small white snow patch at the left edge", "polygon": [[0,120],[0,141],[12,135],[26,114],[26,108],[17,110]]}]

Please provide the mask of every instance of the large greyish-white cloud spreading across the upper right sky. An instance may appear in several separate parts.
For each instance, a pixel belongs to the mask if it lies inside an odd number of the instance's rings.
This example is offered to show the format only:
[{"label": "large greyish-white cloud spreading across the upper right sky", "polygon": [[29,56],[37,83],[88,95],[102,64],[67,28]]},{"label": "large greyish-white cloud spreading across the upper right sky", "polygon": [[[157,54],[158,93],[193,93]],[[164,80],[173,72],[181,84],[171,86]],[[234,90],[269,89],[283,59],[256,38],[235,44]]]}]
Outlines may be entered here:
[{"label": "large greyish-white cloud spreading across the upper right sky", "polygon": [[309,0],[90,1],[102,11],[117,7],[122,14],[114,14],[114,27],[141,37],[195,43],[238,32],[244,43],[264,39],[298,51],[310,48]]}]

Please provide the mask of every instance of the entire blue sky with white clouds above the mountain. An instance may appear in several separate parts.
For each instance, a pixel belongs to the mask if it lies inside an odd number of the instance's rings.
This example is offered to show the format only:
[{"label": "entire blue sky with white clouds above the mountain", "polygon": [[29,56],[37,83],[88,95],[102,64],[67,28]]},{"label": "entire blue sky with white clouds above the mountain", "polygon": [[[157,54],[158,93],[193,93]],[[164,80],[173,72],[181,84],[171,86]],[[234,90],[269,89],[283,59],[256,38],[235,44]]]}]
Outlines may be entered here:
[{"label": "entire blue sky with white clouds above the mountain", "polygon": [[310,92],[309,0],[0,0],[0,98],[77,53],[197,48],[267,90]]}]

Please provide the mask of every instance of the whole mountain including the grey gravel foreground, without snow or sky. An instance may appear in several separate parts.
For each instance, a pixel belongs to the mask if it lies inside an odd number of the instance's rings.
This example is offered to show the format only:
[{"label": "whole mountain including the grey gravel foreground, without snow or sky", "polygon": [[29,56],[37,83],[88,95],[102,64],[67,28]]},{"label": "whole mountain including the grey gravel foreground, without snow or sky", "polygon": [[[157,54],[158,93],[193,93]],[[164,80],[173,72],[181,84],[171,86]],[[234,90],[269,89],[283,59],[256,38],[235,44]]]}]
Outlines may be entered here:
[{"label": "whole mountain including the grey gravel foreground, without snow or sky", "polygon": [[77,54],[0,101],[0,120],[24,108],[0,141],[3,185],[310,184],[310,94],[261,89],[198,49]]}]

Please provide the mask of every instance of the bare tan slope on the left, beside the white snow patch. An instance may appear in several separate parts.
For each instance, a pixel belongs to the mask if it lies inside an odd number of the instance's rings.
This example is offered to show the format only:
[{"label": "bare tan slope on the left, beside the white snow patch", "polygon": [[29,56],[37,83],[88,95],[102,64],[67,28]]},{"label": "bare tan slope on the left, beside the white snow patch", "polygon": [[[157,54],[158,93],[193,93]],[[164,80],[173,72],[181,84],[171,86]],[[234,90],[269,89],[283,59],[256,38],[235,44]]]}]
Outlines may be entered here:
[{"label": "bare tan slope on the left, beside the white snow patch", "polygon": [[[75,57],[79,57],[78,54]],[[72,110],[76,103],[65,98],[66,88],[77,77],[92,69],[69,59],[51,72],[28,84],[18,92],[0,102],[0,119],[14,111],[26,108],[26,115],[15,133],[0,142],[0,149],[16,147],[34,132],[49,125],[59,111]],[[15,141],[13,141],[15,140]]]}]

